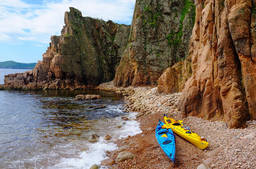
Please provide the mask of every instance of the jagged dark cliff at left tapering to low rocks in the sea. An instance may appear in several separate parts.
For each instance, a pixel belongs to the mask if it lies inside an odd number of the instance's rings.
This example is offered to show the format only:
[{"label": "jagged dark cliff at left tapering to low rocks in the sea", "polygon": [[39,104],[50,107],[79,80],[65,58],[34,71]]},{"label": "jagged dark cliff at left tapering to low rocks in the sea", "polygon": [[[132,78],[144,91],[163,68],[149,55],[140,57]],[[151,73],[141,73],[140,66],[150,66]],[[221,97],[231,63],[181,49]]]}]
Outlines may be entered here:
[{"label": "jagged dark cliff at left tapering to low rocks in the sea", "polygon": [[83,17],[72,7],[64,23],[33,70],[5,76],[7,88],[83,89],[114,78],[130,26]]}]

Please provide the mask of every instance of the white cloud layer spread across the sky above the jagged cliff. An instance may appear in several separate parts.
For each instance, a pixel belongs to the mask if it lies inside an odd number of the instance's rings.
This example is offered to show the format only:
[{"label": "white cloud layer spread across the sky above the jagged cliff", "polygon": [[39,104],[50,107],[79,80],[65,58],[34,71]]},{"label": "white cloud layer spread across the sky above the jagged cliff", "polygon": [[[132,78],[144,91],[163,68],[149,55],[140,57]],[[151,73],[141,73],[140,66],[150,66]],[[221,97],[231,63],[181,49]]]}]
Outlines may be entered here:
[{"label": "white cloud layer spread across the sky above the jagged cliff", "polygon": [[[42,5],[27,4],[21,0],[0,0],[0,42],[22,43],[34,41],[49,43],[50,36],[60,35],[64,13],[69,7],[83,16],[131,24],[135,0],[44,0]],[[24,31],[29,29],[29,31]]]}]

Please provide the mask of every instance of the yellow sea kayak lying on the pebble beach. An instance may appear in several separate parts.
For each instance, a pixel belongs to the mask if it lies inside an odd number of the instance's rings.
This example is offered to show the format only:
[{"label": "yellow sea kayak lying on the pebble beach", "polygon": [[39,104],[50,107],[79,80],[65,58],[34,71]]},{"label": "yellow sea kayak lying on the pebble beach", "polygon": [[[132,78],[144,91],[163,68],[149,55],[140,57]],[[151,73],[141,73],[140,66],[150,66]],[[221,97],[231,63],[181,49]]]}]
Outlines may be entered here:
[{"label": "yellow sea kayak lying on the pebble beach", "polygon": [[200,149],[205,149],[208,147],[209,143],[204,137],[198,136],[195,132],[191,131],[187,126],[183,124],[182,120],[176,121],[172,118],[168,118],[166,114],[164,114],[164,122],[167,126],[170,126],[172,131],[194,144],[196,147]]}]

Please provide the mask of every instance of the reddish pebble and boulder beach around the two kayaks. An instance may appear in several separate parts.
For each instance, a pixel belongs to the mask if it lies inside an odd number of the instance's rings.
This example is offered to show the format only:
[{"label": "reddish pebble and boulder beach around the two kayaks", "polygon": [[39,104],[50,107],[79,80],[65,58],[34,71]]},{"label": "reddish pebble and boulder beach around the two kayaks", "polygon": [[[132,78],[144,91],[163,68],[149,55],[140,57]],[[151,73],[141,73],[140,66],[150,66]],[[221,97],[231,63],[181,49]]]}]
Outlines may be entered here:
[{"label": "reddish pebble and boulder beach around the two kayaks", "polygon": [[[157,94],[154,87],[117,88],[114,83],[102,83],[97,89],[123,93],[127,102],[126,112],[137,112],[135,119],[143,131],[132,137],[117,140],[120,149],[108,152],[109,160],[116,160],[119,152],[129,151],[136,156],[123,162],[115,162],[108,168],[255,168],[256,122],[247,121],[244,129],[228,128],[223,121],[210,121],[188,116],[181,118],[177,109],[179,96],[175,94]],[[132,92],[131,92],[132,91]],[[134,92],[134,93],[133,93]],[[132,93],[129,94],[129,93]],[[204,136],[209,142],[205,150],[190,144],[176,136],[175,164],[158,147],[155,127],[163,114],[183,120],[191,130]],[[93,166],[92,166],[93,167]],[[94,166],[95,167],[95,166]]]}]

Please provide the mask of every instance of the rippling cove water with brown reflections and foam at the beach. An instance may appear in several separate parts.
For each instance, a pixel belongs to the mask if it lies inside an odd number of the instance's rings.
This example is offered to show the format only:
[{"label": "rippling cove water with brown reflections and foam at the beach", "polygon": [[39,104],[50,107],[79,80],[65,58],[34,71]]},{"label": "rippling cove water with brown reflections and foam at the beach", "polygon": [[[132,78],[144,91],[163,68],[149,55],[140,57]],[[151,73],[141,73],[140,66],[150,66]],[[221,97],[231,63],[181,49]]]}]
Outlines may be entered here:
[{"label": "rippling cove water with brown reflections and foam at the beach", "polygon": [[[78,94],[102,99],[74,102]],[[0,168],[90,168],[117,148],[106,134],[113,140],[141,132],[136,121],[121,120],[134,115],[122,111],[123,96],[113,92],[2,90],[0,99]],[[107,108],[89,108],[100,104]],[[91,134],[100,141],[88,142]]]}]

